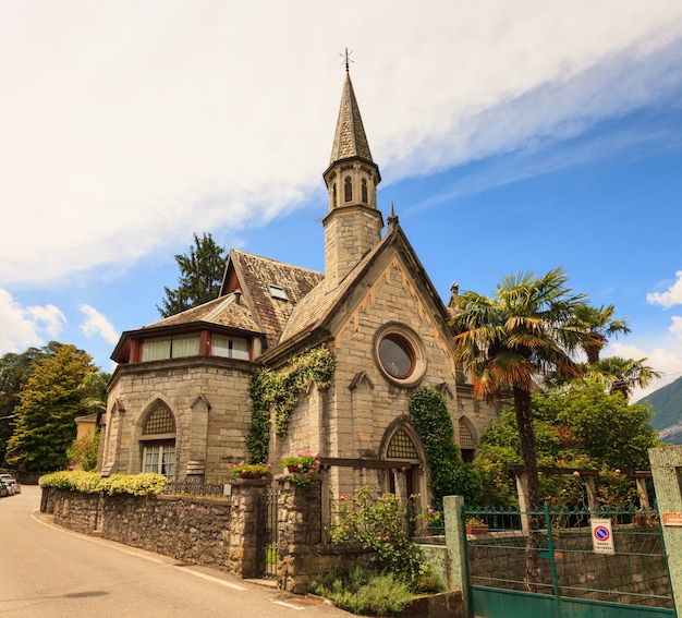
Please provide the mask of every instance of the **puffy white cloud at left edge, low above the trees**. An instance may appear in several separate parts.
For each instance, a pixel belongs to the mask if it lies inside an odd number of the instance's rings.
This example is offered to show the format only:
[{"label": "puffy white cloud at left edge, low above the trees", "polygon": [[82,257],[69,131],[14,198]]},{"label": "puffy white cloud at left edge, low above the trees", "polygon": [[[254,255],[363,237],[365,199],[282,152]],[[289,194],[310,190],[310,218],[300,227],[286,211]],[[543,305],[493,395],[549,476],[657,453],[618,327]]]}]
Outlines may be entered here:
[{"label": "puffy white cloud at left edge, low above the trees", "polygon": [[22,307],[7,291],[0,289],[0,353],[24,351],[45,342],[44,335],[54,339],[66,318],[54,305]]}]

